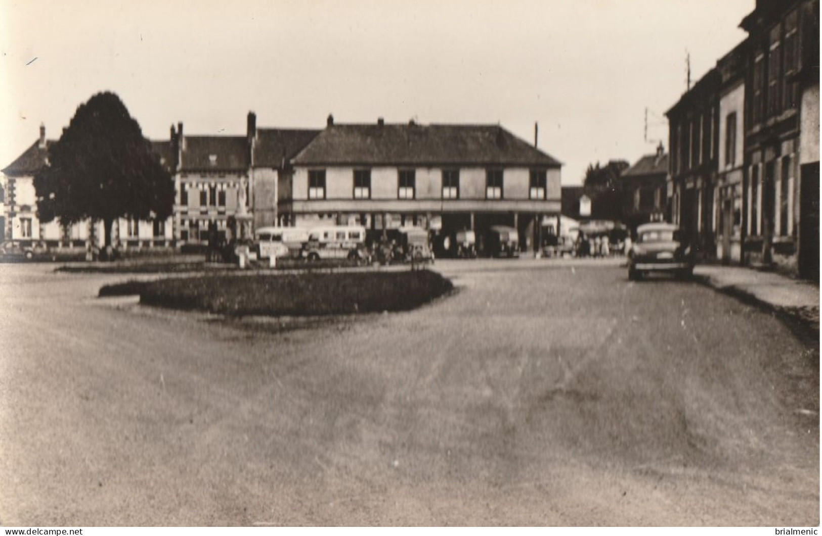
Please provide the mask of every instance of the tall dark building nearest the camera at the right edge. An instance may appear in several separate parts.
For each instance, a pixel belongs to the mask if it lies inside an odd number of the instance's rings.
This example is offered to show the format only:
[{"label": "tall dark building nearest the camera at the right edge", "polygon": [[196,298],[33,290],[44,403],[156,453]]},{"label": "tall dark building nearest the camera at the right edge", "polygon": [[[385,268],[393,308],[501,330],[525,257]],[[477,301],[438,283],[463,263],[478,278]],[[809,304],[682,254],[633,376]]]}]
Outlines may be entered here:
[{"label": "tall dark building nearest the camera at the right edge", "polygon": [[[748,32],[749,65],[746,262],[799,272],[803,251],[806,259],[817,259],[818,277],[819,2],[757,0],[741,26]],[[815,143],[817,149],[804,155],[809,167],[802,168],[805,136],[810,136],[806,145]]]}]

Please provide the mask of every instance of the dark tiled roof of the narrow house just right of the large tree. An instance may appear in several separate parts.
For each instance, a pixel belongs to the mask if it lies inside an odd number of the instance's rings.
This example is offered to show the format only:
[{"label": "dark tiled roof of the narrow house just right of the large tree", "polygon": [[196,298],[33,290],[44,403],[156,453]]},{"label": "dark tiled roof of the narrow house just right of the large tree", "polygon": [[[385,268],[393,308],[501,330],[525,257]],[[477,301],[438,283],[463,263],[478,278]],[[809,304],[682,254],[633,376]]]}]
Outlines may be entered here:
[{"label": "dark tiled roof of the narrow house just right of the large tree", "polygon": [[185,136],[182,171],[229,172],[249,167],[246,136]]}]

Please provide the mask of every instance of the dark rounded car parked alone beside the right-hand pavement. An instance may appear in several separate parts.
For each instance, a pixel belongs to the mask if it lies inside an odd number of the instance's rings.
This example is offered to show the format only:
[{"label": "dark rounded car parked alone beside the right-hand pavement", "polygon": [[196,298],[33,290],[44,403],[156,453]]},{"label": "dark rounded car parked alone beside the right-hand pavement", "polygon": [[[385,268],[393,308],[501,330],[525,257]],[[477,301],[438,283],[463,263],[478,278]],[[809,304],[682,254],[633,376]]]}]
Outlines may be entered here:
[{"label": "dark rounded car parked alone beside the right-hand pavement", "polygon": [[667,272],[680,277],[694,273],[694,254],[682,231],[672,223],[646,223],[636,229],[636,241],[628,252],[628,278],[645,273]]}]

